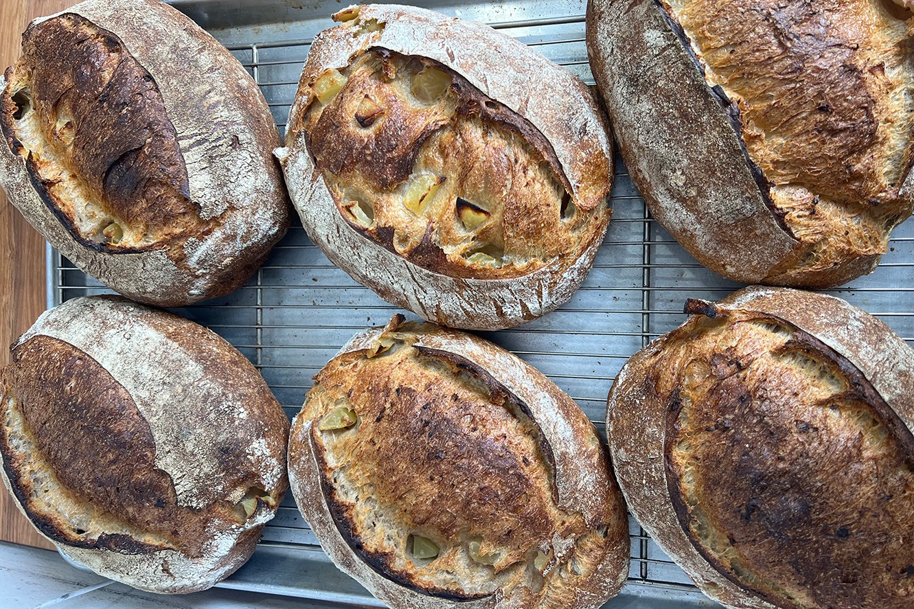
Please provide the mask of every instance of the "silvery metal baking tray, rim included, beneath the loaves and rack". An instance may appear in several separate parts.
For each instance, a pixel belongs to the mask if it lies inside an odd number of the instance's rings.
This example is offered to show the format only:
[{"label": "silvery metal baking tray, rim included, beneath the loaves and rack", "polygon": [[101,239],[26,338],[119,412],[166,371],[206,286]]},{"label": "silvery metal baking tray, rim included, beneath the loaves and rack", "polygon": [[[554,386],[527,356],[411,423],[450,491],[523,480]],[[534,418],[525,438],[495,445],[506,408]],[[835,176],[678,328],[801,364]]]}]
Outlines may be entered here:
[{"label": "silvery metal baking tray, rim included, beneath the loaves and rack", "polygon": [[[260,84],[282,134],[314,35],[345,4],[305,0],[173,0],[218,38]],[[584,45],[584,0],[460,0],[418,3],[489,24],[593,84]],[[484,337],[510,349],[565,390],[605,433],[612,379],[635,351],[685,320],[688,297],[717,300],[740,287],[707,271],[646,211],[617,158],[610,230],[593,270],[571,301],[534,322]],[[48,306],[108,292],[48,250]],[[873,274],[830,294],[877,315],[914,344],[914,220],[895,231]],[[312,377],[365,326],[399,310],[349,278],[308,240],[297,221],[269,260],[234,294],[175,309],[227,338],[253,362],[291,417]],[[413,316],[413,315],[409,315]],[[630,518],[631,570],[606,607],[719,606],[707,600]],[[250,562],[219,584],[266,593],[383,606],[336,570],[292,497],[264,529]]]}]

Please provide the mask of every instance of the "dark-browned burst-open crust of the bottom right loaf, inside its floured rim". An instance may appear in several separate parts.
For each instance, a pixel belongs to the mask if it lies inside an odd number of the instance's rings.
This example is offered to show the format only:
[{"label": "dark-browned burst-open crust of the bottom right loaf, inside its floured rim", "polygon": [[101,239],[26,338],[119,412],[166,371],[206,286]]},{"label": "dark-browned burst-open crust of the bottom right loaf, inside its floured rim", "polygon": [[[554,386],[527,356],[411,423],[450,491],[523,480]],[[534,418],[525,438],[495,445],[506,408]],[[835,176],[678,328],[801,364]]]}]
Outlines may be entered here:
[{"label": "dark-browned burst-open crust of the bottom right loaf, inside its floured rim", "polygon": [[713,313],[649,363],[687,538],[778,607],[908,606],[914,436],[817,338],[779,318]]}]

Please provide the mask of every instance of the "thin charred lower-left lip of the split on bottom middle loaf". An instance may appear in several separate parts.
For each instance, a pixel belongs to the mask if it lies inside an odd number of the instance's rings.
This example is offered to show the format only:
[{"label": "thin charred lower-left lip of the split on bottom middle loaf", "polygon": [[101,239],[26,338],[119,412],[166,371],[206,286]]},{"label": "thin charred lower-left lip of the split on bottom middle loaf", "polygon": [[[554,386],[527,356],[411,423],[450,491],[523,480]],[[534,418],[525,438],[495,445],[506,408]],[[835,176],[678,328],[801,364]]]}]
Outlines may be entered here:
[{"label": "thin charred lower-left lip of the split on bottom middle loaf", "polygon": [[349,513],[353,510],[353,507],[336,498],[336,489],[329,475],[332,470],[324,457],[324,445],[317,438],[316,434],[317,428],[312,426],[309,442],[312,445],[314,456],[317,460],[317,470],[320,473],[321,481],[321,494],[324,496],[327,511],[330,513],[330,517],[333,519],[336,529],[339,531],[343,540],[345,540],[346,545],[349,546],[349,549],[356,554],[359,561],[367,564],[372,571],[376,572],[381,577],[397,583],[404,588],[409,588],[409,590],[427,596],[450,601],[473,601],[489,596],[488,594],[460,594],[441,588],[421,587],[418,582],[415,582],[409,577],[409,573],[400,572],[394,568],[393,553],[367,550],[362,543],[362,538],[352,528],[352,521],[349,518]]}]

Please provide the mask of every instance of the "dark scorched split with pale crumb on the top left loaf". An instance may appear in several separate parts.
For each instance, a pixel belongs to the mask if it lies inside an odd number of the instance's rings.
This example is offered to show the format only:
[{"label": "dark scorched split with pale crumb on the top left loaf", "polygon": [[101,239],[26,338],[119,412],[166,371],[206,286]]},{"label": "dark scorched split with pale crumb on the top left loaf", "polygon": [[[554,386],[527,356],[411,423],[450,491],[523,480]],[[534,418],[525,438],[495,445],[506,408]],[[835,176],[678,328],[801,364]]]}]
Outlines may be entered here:
[{"label": "dark scorched split with pale crumb on the top left loaf", "polygon": [[119,37],[71,13],[33,24],[6,80],[7,144],[74,240],[137,252],[213,229],[190,200],[162,95]]}]

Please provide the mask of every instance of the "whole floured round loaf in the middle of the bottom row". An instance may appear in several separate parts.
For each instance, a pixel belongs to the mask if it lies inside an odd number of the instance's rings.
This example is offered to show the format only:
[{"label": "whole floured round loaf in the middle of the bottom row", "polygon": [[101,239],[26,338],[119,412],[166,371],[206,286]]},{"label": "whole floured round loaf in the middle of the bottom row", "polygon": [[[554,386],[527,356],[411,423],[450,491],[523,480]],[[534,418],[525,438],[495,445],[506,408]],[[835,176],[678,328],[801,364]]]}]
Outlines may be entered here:
[{"label": "whole floured round loaf in the middle of the bottom row", "polygon": [[354,337],[292,422],[289,474],[330,558],[394,609],[598,607],[628,575],[596,429],[481,338],[401,315]]}]

